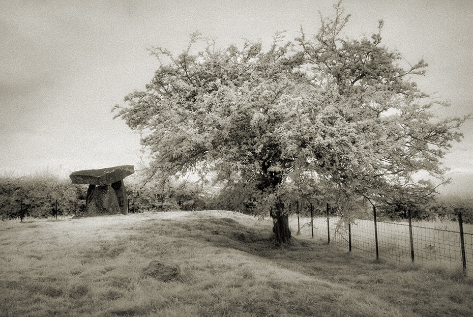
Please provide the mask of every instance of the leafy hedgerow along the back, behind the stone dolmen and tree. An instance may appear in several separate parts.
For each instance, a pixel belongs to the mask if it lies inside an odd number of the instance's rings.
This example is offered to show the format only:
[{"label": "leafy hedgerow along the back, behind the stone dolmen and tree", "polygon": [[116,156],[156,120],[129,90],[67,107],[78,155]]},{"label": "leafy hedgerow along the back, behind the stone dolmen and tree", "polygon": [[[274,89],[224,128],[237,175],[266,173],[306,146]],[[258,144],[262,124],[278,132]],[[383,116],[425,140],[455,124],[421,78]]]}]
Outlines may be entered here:
[{"label": "leafy hedgerow along the back, behind the stone dolmen and tree", "polygon": [[[255,208],[251,192],[239,188],[224,187],[218,190],[192,182],[169,181],[163,185],[140,180],[127,183],[126,188],[130,213],[213,209],[248,213]],[[22,220],[26,216],[46,218],[55,216],[56,213],[58,216],[81,215],[85,211],[86,191],[86,185],[72,184],[68,179],[49,175],[0,176],[0,217],[3,220]],[[242,199],[242,195],[246,199]],[[291,212],[310,214],[307,201],[298,198],[296,192],[291,197],[293,201],[288,204]],[[473,223],[471,206],[471,199],[447,197],[435,199],[426,205],[399,205],[381,209],[380,216],[406,219],[406,208],[409,208],[413,219],[456,220],[456,215],[462,212],[464,222]],[[316,206],[314,208],[317,209]]]}]

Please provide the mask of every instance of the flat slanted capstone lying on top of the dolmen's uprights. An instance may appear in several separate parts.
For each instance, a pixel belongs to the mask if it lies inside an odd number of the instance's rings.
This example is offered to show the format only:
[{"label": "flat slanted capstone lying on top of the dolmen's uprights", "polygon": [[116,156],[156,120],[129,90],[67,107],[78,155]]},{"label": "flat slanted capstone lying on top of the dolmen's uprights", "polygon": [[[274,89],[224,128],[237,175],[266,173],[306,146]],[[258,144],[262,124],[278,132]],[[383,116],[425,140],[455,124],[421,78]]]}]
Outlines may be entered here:
[{"label": "flat slanted capstone lying on top of the dolmen's uprights", "polygon": [[135,172],[133,165],[120,165],[100,169],[84,169],[71,173],[69,176],[73,184],[111,185],[123,180]]}]

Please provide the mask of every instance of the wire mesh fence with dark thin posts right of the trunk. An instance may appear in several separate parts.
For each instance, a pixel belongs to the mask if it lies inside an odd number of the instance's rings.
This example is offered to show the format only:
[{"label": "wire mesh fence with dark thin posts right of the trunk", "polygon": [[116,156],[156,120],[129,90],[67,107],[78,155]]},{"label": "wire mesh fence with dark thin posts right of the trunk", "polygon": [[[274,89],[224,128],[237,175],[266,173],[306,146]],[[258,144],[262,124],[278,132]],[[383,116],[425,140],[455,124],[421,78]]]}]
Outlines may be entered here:
[{"label": "wire mesh fence with dark thin posts right of the trunk", "polygon": [[[373,258],[422,265],[463,267],[473,271],[473,224],[453,220],[389,221],[356,219],[343,223],[334,215],[318,212],[289,218],[292,233],[312,236],[353,253]],[[376,225],[375,225],[376,224]]]}]

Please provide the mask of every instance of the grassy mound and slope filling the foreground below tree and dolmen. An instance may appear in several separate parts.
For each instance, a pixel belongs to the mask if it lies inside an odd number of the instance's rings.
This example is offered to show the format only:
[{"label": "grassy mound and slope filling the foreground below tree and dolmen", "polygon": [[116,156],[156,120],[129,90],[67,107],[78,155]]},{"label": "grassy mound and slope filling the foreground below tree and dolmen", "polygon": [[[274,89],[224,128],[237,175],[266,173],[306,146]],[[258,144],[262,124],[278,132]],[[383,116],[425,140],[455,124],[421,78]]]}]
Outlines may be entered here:
[{"label": "grassy mound and slope filling the foreground below tree and dolmen", "polygon": [[[323,242],[273,249],[231,212],[0,223],[5,316],[467,316],[460,272],[374,263]],[[181,279],[143,277],[151,261]]]}]

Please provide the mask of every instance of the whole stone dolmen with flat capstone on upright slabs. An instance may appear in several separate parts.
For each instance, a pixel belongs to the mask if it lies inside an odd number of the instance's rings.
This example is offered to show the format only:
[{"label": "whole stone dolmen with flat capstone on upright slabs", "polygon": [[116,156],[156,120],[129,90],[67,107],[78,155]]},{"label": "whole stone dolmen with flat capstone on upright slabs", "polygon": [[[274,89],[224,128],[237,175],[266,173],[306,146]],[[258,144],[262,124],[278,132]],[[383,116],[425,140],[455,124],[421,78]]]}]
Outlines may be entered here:
[{"label": "whole stone dolmen with flat capstone on upright slabs", "polygon": [[128,197],[123,179],[135,172],[133,165],[84,169],[69,176],[73,184],[89,184],[84,215],[128,213]]}]

